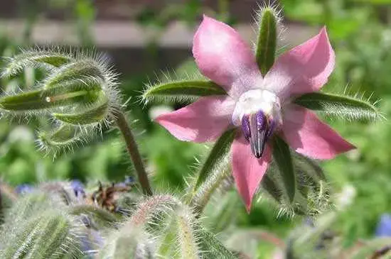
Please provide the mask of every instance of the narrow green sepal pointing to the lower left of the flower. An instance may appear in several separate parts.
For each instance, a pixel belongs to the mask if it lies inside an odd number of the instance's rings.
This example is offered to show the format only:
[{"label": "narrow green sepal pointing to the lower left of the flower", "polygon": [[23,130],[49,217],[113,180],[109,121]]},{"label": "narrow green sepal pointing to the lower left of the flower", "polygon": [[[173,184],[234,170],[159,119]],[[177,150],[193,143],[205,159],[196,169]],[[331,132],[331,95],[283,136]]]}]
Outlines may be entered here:
[{"label": "narrow green sepal pointing to the lower left of the flower", "polygon": [[230,147],[235,135],[236,129],[232,128],[225,131],[225,133],[223,133],[223,135],[216,141],[208,155],[208,158],[205,160],[200,172],[198,173],[198,179],[194,186],[195,188],[199,187],[200,184],[203,184],[203,182],[208,180],[208,177],[210,177],[213,173],[213,170],[218,163],[230,152]]}]

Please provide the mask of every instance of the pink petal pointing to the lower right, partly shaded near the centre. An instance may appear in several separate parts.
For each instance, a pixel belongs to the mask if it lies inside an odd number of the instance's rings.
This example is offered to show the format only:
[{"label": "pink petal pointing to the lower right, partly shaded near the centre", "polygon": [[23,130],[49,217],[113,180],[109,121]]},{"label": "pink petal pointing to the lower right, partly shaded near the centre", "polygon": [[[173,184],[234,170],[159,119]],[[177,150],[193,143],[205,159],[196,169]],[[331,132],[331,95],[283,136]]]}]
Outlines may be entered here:
[{"label": "pink petal pointing to the lower right, partly shaded near the centre", "polygon": [[283,138],[298,153],[314,159],[331,159],[355,148],[309,109],[289,104],[283,117]]}]

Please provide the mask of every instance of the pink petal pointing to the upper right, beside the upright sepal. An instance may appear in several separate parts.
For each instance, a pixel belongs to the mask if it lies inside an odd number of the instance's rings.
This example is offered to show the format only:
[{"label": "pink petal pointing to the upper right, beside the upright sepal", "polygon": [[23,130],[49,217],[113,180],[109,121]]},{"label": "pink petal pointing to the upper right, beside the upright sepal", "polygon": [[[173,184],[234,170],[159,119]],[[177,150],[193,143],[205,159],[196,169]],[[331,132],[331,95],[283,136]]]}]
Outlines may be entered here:
[{"label": "pink petal pointing to the upper right, beside the upright sepal", "polygon": [[326,84],[335,64],[326,28],[280,56],[264,77],[264,86],[282,99],[315,92]]}]

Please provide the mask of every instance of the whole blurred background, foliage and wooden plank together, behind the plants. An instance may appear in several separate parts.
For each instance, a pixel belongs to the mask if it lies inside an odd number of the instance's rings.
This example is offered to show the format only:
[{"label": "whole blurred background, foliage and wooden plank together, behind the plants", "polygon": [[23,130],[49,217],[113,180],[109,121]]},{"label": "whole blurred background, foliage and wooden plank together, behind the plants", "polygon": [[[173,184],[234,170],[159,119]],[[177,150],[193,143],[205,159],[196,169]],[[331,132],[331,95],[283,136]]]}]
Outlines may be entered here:
[{"label": "whole blurred background, foliage and wooden plank together, behind the plants", "polygon": [[[269,0],[267,0],[269,1]],[[304,42],[326,24],[336,50],[337,65],[326,91],[364,93],[380,100],[385,116],[391,114],[391,1],[387,0],[281,0],[284,28],[281,52]],[[204,145],[183,143],[151,122],[161,111],[183,104],[143,107],[138,96],[144,83],[162,73],[178,76],[195,70],[191,58],[193,33],[202,14],[230,23],[243,37],[255,40],[253,18],[263,1],[255,0],[14,0],[0,1],[0,55],[18,53],[31,46],[72,46],[96,49],[119,72],[124,100],[137,132],[141,153],[155,184],[180,191],[193,173],[195,157],[207,152]],[[40,77],[26,69],[21,77],[1,79],[3,90],[28,87]],[[328,120],[327,118],[325,118]],[[123,180],[132,175],[120,138],[104,133],[95,143],[75,153],[38,152],[34,143],[42,119],[0,120],[0,177],[16,186],[48,180]],[[391,127],[330,121],[357,150],[322,162],[335,192],[350,189],[343,199],[350,206],[338,216],[336,230],[346,246],[373,236],[380,216],[391,213]],[[355,195],[351,195],[351,194]],[[264,229],[284,237],[302,219],[277,218],[277,210],[259,199],[252,214],[238,206],[237,224]],[[383,215],[384,216],[384,215]],[[266,246],[266,245],[265,245]],[[264,251],[261,247],[259,250]]]}]

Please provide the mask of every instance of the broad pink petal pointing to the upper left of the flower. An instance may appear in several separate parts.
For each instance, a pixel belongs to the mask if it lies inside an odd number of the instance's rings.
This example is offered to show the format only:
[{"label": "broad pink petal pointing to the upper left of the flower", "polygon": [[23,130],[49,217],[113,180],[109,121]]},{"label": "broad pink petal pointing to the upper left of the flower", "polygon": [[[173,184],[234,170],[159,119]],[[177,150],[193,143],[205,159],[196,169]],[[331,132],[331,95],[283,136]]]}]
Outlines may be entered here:
[{"label": "broad pink petal pointing to the upper left of the flower", "polygon": [[262,79],[255,55],[245,40],[227,24],[208,16],[204,16],[194,35],[193,55],[203,75],[232,97],[239,97],[258,77]]}]

